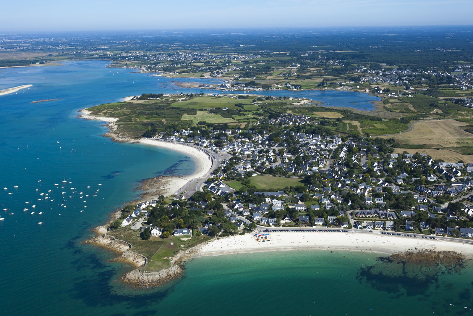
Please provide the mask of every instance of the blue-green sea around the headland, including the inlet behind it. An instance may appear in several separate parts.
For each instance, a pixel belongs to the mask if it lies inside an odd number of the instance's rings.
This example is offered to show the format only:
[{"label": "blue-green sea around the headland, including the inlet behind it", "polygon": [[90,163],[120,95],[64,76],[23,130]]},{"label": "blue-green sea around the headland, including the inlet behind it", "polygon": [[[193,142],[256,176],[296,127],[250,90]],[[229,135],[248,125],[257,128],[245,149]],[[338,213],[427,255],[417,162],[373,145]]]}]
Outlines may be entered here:
[{"label": "blue-green sea around the headland, including the inlet behind it", "polygon": [[[103,61],[78,61],[0,69],[0,89],[33,85],[0,96],[2,315],[472,313],[470,265],[461,274],[421,280],[421,275],[412,278],[392,266],[383,266],[392,273],[373,273],[369,266],[376,264],[375,254],[290,251],[199,257],[186,264],[181,279],[166,286],[124,286],[118,279],[129,266],[110,263],[114,254],[79,242],[92,236],[90,229],[103,224],[111,211],[139,196],[135,188],[140,180],[190,174],[194,162],[173,151],[112,142],[101,136],[106,132],[102,123],[78,119],[77,111],[144,92],[200,90],[176,86],[188,79],[105,66]],[[304,96],[360,109],[377,100],[347,91],[261,94]]]}]

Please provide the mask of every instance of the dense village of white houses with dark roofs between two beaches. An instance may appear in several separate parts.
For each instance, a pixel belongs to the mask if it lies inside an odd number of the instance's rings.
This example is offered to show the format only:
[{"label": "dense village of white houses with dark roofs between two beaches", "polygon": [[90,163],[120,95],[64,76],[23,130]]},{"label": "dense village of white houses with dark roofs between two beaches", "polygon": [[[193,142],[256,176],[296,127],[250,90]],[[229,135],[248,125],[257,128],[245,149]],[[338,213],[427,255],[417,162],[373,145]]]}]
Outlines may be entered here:
[{"label": "dense village of white houses with dark roofs between two beaches", "polygon": [[[154,139],[232,156],[200,192],[140,202],[123,212],[120,227],[150,236],[343,228],[473,237],[473,164],[394,153],[393,140],[342,137],[323,124],[283,114],[247,129],[157,133]],[[273,187],[260,192],[260,181]]]}]

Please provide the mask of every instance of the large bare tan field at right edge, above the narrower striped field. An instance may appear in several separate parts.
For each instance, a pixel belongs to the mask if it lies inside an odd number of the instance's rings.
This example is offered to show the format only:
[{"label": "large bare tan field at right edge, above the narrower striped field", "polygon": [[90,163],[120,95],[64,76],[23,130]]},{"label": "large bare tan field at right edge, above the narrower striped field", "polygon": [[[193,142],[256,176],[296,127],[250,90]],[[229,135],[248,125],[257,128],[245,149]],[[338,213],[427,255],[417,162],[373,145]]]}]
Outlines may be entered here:
[{"label": "large bare tan field at right edge, above the narrower striped field", "polygon": [[468,123],[455,120],[422,121],[412,124],[411,132],[380,137],[394,138],[400,144],[409,145],[473,146],[473,134],[460,128],[464,125]]}]

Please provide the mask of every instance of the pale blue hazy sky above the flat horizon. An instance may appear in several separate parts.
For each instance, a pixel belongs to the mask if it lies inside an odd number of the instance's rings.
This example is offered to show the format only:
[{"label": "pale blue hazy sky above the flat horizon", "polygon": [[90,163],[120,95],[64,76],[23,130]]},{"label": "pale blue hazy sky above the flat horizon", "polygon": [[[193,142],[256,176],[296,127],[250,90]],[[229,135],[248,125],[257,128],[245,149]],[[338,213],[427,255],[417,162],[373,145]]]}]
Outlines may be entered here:
[{"label": "pale blue hazy sky above the flat horizon", "polygon": [[1,0],[0,8],[0,33],[473,24],[473,0]]}]

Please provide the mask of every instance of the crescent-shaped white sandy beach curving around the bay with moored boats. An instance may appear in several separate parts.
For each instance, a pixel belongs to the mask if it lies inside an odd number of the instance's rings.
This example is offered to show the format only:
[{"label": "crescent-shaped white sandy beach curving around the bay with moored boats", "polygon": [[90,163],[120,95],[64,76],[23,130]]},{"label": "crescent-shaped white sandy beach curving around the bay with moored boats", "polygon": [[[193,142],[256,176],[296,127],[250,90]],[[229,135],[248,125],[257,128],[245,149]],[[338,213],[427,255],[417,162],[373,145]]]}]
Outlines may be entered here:
[{"label": "crescent-shaped white sandy beach curving around the bay with moored boats", "polygon": [[163,193],[163,195],[173,195],[180,188],[184,187],[189,181],[195,181],[199,178],[207,177],[210,169],[212,168],[212,160],[210,159],[210,156],[205,153],[205,151],[199,151],[199,149],[195,147],[162,140],[143,139],[139,141],[142,144],[158,146],[161,148],[182,152],[187,156],[191,156],[195,161],[194,173],[190,176],[174,177],[173,181],[168,183],[166,188],[163,188],[166,189],[166,194]]}]

